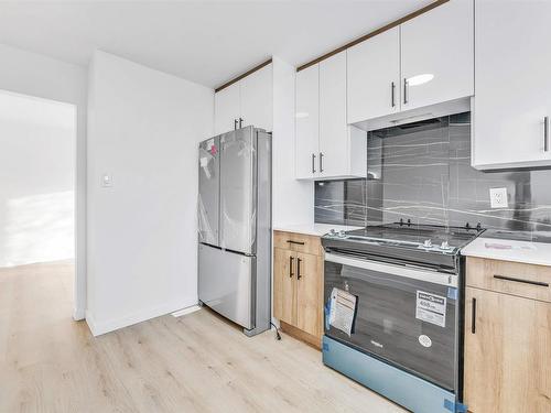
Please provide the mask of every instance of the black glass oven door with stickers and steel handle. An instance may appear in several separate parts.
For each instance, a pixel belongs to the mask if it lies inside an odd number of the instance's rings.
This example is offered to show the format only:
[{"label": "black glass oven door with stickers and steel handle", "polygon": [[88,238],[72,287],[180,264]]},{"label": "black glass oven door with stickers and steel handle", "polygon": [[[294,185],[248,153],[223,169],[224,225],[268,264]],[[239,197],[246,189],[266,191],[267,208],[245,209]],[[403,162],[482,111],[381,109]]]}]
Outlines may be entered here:
[{"label": "black glass oven door with stickers and steel handle", "polygon": [[[326,336],[456,390],[457,275],[326,253],[324,284]],[[356,296],[352,332],[338,291]]]}]

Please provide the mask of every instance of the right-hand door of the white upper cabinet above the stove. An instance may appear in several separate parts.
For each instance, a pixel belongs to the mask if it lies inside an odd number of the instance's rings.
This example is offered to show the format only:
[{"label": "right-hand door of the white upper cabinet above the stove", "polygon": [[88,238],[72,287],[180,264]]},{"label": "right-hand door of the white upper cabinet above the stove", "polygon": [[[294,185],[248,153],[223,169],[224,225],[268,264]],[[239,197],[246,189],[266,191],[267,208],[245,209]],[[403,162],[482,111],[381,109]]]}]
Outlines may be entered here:
[{"label": "right-hand door of the white upper cabinet above the stove", "polygon": [[451,0],[400,25],[402,110],[474,95],[473,9]]}]

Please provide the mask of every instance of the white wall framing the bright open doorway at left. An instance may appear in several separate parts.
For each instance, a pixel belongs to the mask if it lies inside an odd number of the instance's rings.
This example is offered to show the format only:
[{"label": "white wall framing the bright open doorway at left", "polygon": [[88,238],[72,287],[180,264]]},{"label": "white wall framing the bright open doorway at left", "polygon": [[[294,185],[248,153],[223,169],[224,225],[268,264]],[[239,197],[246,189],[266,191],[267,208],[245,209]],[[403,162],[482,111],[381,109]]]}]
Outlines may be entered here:
[{"label": "white wall framing the bright open doorway at left", "polygon": [[76,283],[74,317],[86,305],[86,68],[0,44],[0,89],[76,105]]}]

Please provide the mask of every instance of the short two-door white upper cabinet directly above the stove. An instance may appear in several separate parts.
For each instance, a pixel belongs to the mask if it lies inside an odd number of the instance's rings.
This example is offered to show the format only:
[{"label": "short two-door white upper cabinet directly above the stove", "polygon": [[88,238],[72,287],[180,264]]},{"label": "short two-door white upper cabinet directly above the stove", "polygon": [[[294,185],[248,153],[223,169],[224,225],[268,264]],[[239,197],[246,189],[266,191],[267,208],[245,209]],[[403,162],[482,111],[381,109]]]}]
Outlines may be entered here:
[{"label": "short two-door white upper cabinet directly above the stove", "polygon": [[348,123],[372,130],[468,110],[473,9],[451,0],[349,47]]}]

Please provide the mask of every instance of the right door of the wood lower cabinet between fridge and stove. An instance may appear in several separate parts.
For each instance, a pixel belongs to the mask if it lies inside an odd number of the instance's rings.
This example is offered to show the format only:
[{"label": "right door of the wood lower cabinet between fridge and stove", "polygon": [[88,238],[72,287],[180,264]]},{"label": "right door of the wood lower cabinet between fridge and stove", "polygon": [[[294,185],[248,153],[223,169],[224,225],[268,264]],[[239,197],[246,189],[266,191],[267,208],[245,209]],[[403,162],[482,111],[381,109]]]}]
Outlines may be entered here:
[{"label": "right door of the wood lower cabinet between fridge and stove", "polygon": [[323,324],[323,261],[310,253],[296,254],[296,327],[316,337]]}]

